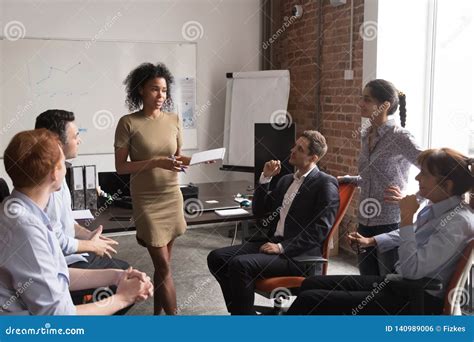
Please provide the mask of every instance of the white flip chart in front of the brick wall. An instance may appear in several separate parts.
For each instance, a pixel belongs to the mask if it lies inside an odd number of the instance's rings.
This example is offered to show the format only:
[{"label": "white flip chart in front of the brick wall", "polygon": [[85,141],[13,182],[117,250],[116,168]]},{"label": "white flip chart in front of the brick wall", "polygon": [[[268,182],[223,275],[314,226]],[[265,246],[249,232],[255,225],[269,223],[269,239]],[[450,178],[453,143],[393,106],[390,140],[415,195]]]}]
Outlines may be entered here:
[{"label": "white flip chart in front of the brick wall", "polygon": [[277,129],[291,125],[289,95],[288,70],[234,72],[227,78],[225,165],[254,166],[254,124],[277,124]]}]

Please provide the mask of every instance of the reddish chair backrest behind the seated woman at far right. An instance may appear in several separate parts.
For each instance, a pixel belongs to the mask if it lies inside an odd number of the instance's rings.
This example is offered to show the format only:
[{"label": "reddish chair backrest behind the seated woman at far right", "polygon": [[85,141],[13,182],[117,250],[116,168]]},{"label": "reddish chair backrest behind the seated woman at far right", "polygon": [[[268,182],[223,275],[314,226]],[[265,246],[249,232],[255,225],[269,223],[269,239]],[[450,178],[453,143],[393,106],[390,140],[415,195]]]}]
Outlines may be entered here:
[{"label": "reddish chair backrest behind the seated woman at far right", "polygon": [[466,304],[471,296],[471,293],[467,292],[464,287],[474,262],[473,249],[474,240],[471,240],[459,257],[444,294],[444,315],[461,315],[461,305]]}]

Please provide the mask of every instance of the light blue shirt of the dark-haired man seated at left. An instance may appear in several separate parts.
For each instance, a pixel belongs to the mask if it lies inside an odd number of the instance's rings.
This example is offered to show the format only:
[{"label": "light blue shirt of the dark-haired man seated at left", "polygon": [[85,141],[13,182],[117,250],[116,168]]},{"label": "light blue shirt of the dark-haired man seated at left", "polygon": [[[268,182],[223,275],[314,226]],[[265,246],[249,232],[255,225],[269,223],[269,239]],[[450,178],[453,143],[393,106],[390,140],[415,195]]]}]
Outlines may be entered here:
[{"label": "light blue shirt of the dark-haired man seated at left", "polygon": [[74,254],[77,252],[79,241],[75,238],[74,225],[76,221],[72,216],[71,193],[66,180],[63,181],[59,191],[51,194],[45,211],[56,233],[63,254],[66,256],[67,264],[71,265],[80,261],[87,262],[84,257],[87,254]]}]

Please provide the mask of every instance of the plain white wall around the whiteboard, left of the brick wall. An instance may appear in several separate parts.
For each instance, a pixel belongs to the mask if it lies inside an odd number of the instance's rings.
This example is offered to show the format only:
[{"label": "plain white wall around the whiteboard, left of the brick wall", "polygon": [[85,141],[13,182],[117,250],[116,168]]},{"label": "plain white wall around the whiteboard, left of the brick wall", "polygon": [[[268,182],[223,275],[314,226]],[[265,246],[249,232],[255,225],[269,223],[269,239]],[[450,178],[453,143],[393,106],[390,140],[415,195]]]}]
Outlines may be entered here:
[{"label": "plain white wall around the whiteboard, left of the brick wall", "polygon": [[[185,41],[183,25],[198,22],[194,34],[202,34],[195,40],[199,150],[223,144],[225,73],[260,68],[259,0],[0,0],[0,4],[2,31],[17,20],[28,38]],[[112,20],[119,12],[119,18]],[[193,32],[188,32],[192,38]],[[124,98],[125,94],[117,101]],[[98,171],[114,170],[113,155],[79,156],[74,163],[95,164]],[[218,166],[193,167],[181,176],[181,183],[253,179],[253,175],[219,171]]]}]

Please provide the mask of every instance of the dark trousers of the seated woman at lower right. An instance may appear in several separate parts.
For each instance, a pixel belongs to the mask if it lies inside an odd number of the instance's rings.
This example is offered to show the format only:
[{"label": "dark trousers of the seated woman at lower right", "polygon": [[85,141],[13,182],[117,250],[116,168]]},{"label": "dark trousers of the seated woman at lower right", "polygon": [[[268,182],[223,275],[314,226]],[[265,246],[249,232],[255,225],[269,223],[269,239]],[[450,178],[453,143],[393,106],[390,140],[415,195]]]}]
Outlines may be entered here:
[{"label": "dark trousers of the seated woman at lower right", "polygon": [[[443,300],[425,294],[425,313],[441,314]],[[289,315],[407,315],[410,300],[380,276],[307,278]]]}]

